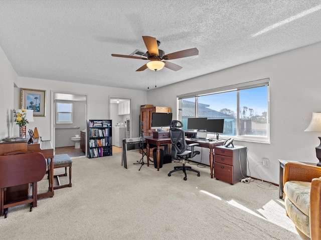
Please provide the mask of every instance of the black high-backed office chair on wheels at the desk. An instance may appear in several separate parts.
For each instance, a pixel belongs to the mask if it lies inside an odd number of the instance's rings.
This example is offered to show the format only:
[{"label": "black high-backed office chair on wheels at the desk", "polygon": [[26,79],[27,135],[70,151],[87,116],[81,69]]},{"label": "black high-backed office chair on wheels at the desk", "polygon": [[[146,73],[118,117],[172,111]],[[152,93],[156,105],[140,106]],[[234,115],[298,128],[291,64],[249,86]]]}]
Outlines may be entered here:
[{"label": "black high-backed office chair on wheels at the desk", "polygon": [[[171,126],[170,126],[170,136],[171,136],[171,142],[172,142],[171,155],[172,155],[172,158],[174,159],[177,159],[177,160],[183,159],[183,166],[175,166],[174,170],[170,171],[168,175],[171,176],[173,172],[182,170],[185,173],[184,180],[187,180],[186,170],[195,171],[197,172],[197,175],[200,176],[199,171],[192,169],[192,167],[190,166],[185,166],[185,160],[197,154],[200,154],[200,151],[194,151],[194,146],[198,145],[199,143],[192,143],[188,145],[185,140],[185,131],[179,127],[183,127],[183,122],[179,120],[173,120],[171,122]],[[188,147],[190,147],[190,149],[188,149]]]}]

